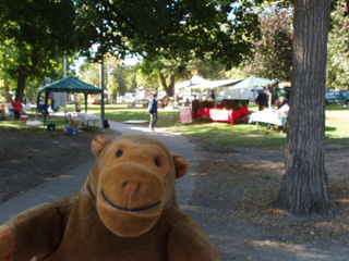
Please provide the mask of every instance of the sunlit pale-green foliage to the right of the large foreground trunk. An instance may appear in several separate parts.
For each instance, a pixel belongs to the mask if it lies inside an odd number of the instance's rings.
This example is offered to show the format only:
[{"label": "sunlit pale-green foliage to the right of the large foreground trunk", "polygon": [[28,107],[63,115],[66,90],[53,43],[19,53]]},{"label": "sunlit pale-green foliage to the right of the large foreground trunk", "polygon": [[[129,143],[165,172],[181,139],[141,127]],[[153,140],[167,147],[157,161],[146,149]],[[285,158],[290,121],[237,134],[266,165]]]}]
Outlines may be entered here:
[{"label": "sunlit pale-green foliage to the right of the large foreground trunk", "polygon": [[348,7],[339,1],[332,12],[332,29],[328,35],[327,86],[347,89],[349,86],[349,34],[348,17],[345,12]]}]

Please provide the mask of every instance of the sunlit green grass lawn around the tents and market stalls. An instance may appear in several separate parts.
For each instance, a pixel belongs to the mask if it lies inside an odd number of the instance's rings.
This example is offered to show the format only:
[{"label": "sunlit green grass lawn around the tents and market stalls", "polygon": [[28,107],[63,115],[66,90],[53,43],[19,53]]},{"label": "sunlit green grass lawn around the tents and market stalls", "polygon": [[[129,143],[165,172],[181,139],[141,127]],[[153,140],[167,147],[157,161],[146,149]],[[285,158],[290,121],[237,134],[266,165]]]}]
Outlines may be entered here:
[{"label": "sunlit green grass lawn around the tents and market stalls", "polygon": [[[128,104],[106,104],[106,119],[110,121],[149,120],[146,109],[129,109]],[[69,111],[73,111],[73,105],[68,105]],[[88,113],[99,114],[99,105],[88,105]],[[255,107],[251,108],[255,111]],[[40,116],[43,117],[43,116]],[[40,120],[40,117],[38,120]],[[326,108],[326,144],[330,149],[349,148],[349,109],[342,107]],[[53,121],[57,127],[67,124],[62,120],[48,119]],[[147,125],[147,124],[144,124]],[[0,122],[0,127],[11,129],[23,129],[25,122],[4,121]],[[228,124],[210,122],[208,119],[198,119],[193,124],[181,124],[179,122],[178,110],[159,110],[159,121],[156,127],[168,128],[185,135],[189,139],[197,140],[203,147],[255,147],[255,148],[284,148],[286,134],[277,130],[268,130],[265,125],[260,124]]]}]

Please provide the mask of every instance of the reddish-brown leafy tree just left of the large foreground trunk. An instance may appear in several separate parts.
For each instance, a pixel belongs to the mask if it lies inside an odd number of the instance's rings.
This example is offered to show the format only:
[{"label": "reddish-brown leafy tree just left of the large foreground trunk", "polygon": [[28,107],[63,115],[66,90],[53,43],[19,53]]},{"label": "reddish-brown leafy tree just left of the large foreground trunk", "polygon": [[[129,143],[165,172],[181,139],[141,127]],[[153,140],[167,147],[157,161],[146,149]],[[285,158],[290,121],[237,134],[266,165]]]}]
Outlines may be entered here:
[{"label": "reddish-brown leafy tree just left of the large foreground trunk", "polygon": [[253,41],[253,55],[246,64],[246,74],[291,80],[291,9],[276,3],[264,5],[260,12],[260,28],[262,38]]}]

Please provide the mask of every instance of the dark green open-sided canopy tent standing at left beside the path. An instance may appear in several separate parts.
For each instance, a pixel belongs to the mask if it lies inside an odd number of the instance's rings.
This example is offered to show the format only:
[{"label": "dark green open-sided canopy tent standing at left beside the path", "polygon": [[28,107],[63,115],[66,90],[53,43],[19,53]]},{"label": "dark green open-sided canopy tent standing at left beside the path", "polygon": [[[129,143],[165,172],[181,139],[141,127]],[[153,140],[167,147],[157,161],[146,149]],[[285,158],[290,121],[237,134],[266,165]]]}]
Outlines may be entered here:
[{"label": "dark green open-sided canopy tent standing at left beside the path", "polygon": [[100,119],[101,119],[101,128],[104,128],[105,120],[105,94],[104,89],[97,88],[93,85],[86,84],[73,76],[57,80],[50,85],[40,87],[37,94],[37,110],[39,108],[39,98],[43,92],[45,92],[45,115],[44,115],[44,129],[46,126],[46,115],[47,115],[47,103],[49,92],[83,92],[85,95],[85,113],[87,113],[87,95],[89,94],[100,94]]}]

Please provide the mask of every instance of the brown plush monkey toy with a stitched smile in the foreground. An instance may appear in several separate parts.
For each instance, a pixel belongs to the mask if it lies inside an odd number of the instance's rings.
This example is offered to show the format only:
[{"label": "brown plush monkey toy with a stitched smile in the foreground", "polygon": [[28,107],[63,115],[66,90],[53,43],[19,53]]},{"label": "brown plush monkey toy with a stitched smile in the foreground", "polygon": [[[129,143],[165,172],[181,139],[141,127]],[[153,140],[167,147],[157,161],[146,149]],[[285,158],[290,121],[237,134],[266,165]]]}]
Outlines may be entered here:
[{"label": "brown plush monkey toy with a stitched smile in the foreground", "polygon": [[0,261],[220,260],[179,209],[183,157],[145,135],[97,136],[92,150],[97,160],[77,192],[0,226]]}]

